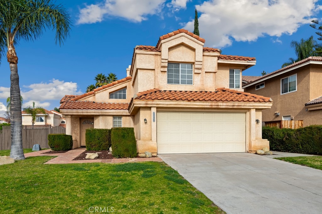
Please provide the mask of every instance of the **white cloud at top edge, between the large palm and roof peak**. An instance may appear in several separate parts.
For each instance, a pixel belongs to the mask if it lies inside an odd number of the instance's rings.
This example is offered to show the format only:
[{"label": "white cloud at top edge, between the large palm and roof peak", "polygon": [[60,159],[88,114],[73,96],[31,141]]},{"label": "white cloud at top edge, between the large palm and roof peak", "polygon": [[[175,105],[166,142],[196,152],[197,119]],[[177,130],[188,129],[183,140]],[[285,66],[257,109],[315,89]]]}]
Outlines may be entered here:
[{"label": "white cloud at top edge, between the large palm and roof peak", "polygon": [[160,13],[165,0],[105,0],[80,9],[77,24],[101,22],[107,16],[125,18],[134,22],[147,20],[147,15]]}]

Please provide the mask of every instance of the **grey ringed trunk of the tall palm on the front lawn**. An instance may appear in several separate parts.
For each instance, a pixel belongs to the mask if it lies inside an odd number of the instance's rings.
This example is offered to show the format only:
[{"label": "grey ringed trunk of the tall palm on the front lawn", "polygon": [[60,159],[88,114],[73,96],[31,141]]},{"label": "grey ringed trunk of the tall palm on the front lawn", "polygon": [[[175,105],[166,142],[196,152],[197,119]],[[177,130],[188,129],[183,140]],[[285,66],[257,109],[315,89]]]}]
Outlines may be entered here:
[{"label": "grey ringed trunk of the tall palm on the front lawn", "polygon": [[11,44],[8,48],[7,59],[10,66],[10,122],[11,122],[11,151],[10,157],[15,160],[23,160],[24,150],[22,147],[22,115],[21,97],[18,75],[18,57]]}]

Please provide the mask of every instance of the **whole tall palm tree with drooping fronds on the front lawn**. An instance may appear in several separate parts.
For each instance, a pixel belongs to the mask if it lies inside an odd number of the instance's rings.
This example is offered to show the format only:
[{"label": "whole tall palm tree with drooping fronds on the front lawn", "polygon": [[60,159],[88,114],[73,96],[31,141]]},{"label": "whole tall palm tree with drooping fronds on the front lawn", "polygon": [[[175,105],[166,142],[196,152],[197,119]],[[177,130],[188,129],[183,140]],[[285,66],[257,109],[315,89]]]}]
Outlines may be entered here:
[{"label": "whole tall palm tree with drooping fronds on the front lawn", "polygon": [[[61,4],[51,0],[1,0],[0,1],[0,56],[7,56],[10,66],[10,157],[25,159],[22,148],[22,116],[18,76],[18,57],[15,45],[19,40],[34,40],[42,36],[43,30],[52,27],[55,41],[61,45],[69,36],[70,16]],[[7,53],[5,55],[5,50]],[[37,57],[35,57],[37,58]]]}]

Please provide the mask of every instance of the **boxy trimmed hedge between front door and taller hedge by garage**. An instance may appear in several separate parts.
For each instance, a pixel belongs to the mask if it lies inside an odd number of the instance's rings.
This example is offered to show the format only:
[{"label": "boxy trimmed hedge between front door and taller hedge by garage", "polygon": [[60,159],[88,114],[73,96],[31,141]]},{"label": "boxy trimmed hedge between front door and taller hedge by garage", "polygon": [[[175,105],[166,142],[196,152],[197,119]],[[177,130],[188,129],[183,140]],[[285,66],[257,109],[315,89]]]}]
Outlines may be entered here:
[{"label": "boxy trimmed hedge between front door and taller hedge by garage", "polygon": [[86,129],[86,150],[100,151],[109,150],[111,144],[110,129]]}]

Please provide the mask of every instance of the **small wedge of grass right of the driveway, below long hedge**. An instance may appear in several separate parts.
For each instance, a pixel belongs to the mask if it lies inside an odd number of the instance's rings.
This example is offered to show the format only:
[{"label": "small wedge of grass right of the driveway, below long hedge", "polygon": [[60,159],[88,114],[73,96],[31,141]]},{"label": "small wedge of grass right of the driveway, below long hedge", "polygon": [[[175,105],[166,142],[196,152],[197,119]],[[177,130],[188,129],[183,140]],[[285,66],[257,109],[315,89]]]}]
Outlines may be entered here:
[{"label": "small wedge of grass right of the driveway, below long hedge", "polygon": [[312,167],[322,170],[322,156],[301,156],[301,157],[287,157],[287,158],[275,158],[278,160],[284,160],[293,164],[299,164],[302,166]]}]

